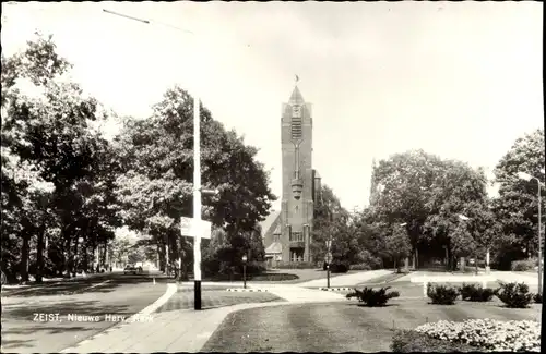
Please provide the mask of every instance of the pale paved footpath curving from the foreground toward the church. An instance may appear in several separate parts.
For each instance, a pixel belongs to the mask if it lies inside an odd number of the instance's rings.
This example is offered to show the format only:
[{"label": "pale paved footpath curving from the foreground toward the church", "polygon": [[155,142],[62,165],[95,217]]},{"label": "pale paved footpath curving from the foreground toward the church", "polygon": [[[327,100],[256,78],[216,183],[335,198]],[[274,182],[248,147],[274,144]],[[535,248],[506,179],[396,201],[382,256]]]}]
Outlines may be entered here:
[{"label": "pale paved footpath curving from the foreground toward the church", "polygon": [[[331,279],[331,285],[356,285],[391,272],[391,270],[373,270],[339,276]],[[339,278],[341,279],[336,282],[333,281]],[[229,286],[239,285],[234,282],[227,284]],[[218,285],[218,283],[214,283],[214,285]],[[106,332],[80,342],[75,347],[66,349],[62,353],[199,352],[226,316],[234,312],[256,307],[347,301],[342,294],[335,292],[309,289],[310,286],[324,285],[324,279],[298,284],[249,284],[249,289],[262,289],[284,301],[238,304],[200,312],[180,309],[154,313],[147,317],[147,320],[117,325]],[[157,308],[161,305],[158,302],[153,306]],[[135,316],[135,318],[139,317]],[[143,319],[146,318],[143,317]]]}]

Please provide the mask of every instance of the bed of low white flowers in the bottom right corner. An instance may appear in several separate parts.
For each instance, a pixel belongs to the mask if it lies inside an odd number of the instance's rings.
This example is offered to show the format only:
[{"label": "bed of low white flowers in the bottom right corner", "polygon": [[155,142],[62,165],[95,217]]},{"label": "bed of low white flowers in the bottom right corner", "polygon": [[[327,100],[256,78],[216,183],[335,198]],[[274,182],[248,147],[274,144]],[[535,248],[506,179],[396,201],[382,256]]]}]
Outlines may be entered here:
[{"label": "bed of low white flowers in the bottom right corner", "polygon": [[499,321],[470,319],[464,322],[425,324],[415,331],[451,343],[464,343],[486,351],[539,351],[541,324],[537,321]]}]

